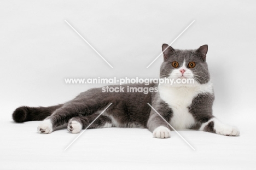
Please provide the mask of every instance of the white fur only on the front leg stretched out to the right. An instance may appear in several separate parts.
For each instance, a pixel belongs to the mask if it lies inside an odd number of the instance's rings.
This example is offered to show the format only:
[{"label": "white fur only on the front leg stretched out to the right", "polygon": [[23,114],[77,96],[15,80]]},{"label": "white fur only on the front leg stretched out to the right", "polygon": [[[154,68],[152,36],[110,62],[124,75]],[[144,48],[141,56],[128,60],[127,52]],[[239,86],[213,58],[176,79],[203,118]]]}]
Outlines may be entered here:
[{"label": "white fur only on the front leg stretched out to the right", "polygon": [[222,122],[220,122],[216,118],[212,118],[209,121],[202,124],[202,126],[200,127],[200,131],[203,131],[205,126],[208,125],[208,123],[211,122],[211,121],[214,122],[214,127],[213,128],[214,128],[214,130],[216,131],[217,134],[222,134],[222,135],[225,135],[225,136],[239,136],[239,134],[240,134],[240,131],[238,130],[238,128],[223,124]]}]

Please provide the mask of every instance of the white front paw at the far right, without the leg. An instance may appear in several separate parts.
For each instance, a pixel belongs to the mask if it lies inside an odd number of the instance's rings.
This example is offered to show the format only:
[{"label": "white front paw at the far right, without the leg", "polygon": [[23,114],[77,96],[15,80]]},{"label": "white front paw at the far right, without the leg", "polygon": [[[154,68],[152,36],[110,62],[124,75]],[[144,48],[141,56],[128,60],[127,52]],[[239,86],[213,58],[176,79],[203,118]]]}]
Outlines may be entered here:
[{"label": "white front paw at the far right, without the leg", "polygon": [[217,134],[222,134],[225,136],[239,136],[240,131],[238,130],[238,128],[233,127],[233,126],[229,126],[229,125],[216,125],[214,126],[215,131]]}]

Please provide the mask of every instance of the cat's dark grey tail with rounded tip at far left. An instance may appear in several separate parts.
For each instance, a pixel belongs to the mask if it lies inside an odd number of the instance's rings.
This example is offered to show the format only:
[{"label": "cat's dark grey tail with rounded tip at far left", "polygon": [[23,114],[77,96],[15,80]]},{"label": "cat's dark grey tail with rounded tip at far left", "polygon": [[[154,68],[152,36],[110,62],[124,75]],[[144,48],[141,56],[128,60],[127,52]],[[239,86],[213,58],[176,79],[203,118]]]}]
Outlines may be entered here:
[{"label": "cat's dark grey tail with rounded tip at far left", "polygon": [[62,107],[62,105],[63,104],[59,104],[50,107],[22,106],[14,110],[13,120],[18,123],[33,120],[44,120],[45,118],[50,116],[56,109]]}]

